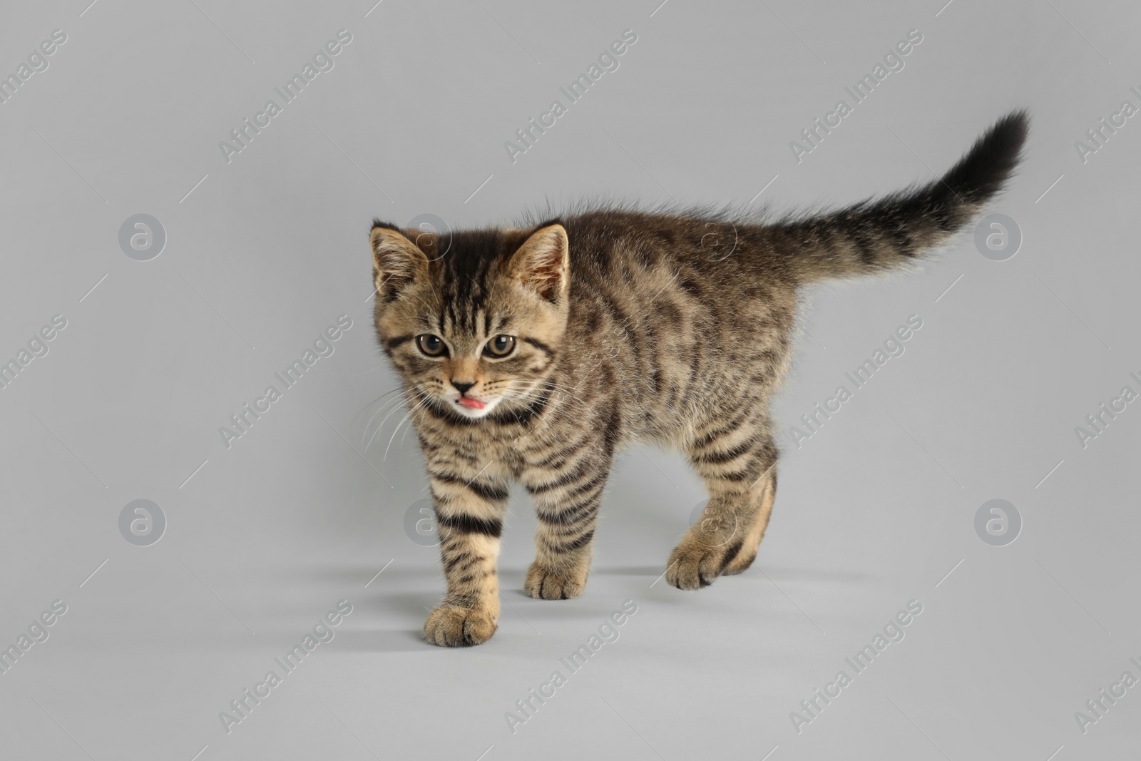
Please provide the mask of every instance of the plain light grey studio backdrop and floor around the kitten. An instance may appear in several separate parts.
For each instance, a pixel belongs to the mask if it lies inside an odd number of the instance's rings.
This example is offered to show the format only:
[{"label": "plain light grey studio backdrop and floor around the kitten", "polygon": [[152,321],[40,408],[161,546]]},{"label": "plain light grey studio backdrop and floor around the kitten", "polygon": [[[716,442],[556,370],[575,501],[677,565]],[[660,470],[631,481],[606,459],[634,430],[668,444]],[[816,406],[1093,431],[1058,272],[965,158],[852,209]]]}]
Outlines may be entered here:
[{"label": "plain light grey studio backdrop and floor around the kitten", "polygon": [[[1141,404],[1085,448],[1075,434],[1141,390],[1141,126],[1085,163],[1074,147],[1141,105],[1133,3],[88,1],[9,3],[0,24],[2,73],[67,35],[0,105],[0,358],[67,321],[0,390],[0,643],[67,606],[0,675],[5,758],[1135,755],[1141,687],[1085,734],[1074,717],[1141,677]],[[218,143],[341,29],[334,68],[227,163]],[[512,163],[503,143],[626,29],[620,68]],[[912,29],[905,68],[798,163],[790,141]],[[919,274],[808,299],[786,432],[909,315],[923,327],[801,448],[783,439],[753,568],[695,593],[655,581],[704,497],[678,455],[634,450],[582,598],[521,593],[516,494],[499,633],[420,640],[443,580],[403,527],[426,487],[403,411],[370,443],[395,388],[373,216],[848,203],[929,179],[1017,106],[1026,163],[990,210],[1021,228],[1015,257],[966,233]],[[137,213],[165,229],[151,261],[119,248]],[[341,314],[335,353],[227,450],[218,428]],[[167,519],[148,547],[119,531],[138,499]],[[1021,515],[1012,544],[976,534],[992,499]],[[335,638],[227,734],[219,712],[339,599]],[[844,657],[913,599],[906,638],[853,675]],[[621,638],[570,674],[559,658],[624,600]],[[512,734],[504,713],[556,670]],[[798,734],[790,712],[840,670],[852,685]]]}]

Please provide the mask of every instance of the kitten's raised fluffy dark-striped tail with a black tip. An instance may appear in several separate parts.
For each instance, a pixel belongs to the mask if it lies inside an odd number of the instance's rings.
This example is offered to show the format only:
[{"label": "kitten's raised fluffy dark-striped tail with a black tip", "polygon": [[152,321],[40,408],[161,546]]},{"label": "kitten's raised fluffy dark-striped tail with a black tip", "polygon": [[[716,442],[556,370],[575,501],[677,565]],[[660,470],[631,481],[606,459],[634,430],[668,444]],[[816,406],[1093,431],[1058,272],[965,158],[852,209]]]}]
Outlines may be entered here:
[{"label": "kitten's raised fluffy dark-striped tail with a black tip", "polygon": [[819,217],[772,226],[802,282],[898,268],[947,243],[994,197],[1018,165],[1029,119],[1003,116],[941,178]]}]

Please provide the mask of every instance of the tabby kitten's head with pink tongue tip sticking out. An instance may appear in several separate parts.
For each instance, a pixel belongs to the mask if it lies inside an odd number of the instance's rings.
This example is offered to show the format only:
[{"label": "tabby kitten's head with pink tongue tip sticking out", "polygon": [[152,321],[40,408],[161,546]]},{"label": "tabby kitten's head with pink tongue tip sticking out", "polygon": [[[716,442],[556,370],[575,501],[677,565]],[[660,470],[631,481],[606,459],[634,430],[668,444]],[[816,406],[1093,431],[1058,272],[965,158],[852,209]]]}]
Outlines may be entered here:
[{"label": "tabby kitten's head with pink tongue tip sticking out", "polygon": [[377,221],[371,243],[377,332],[416,402],[474,422],[541,400],[567,324],[563,225],[445,238]]}]

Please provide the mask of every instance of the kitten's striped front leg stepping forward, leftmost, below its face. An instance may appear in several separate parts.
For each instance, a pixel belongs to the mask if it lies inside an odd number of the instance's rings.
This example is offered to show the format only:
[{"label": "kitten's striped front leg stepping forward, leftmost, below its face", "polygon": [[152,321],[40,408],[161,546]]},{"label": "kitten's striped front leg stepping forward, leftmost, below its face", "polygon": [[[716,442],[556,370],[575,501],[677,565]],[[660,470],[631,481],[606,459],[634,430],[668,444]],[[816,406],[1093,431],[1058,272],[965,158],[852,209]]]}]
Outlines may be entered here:
[{"label": "kitten's striped front leg stepping forward, leftmost, below its face", "polygon": [[447,596],[424,623],[424,639],[432,645],[482,645],[497,626],[495,568],[508,485],[502,473],[489,470],[466,475],[454,465],[429,467],[439,552],[447,577]]}]

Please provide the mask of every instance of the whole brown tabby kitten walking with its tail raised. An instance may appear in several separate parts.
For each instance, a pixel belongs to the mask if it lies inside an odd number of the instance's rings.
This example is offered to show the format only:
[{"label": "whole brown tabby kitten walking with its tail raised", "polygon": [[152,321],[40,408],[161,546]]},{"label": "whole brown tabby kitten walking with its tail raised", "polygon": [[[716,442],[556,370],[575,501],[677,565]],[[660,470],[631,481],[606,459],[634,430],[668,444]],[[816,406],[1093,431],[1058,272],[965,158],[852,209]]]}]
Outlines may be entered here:
[{"label": "whole brown tabby kitten walking with its tail raised", "polygon": [[941,179],[811,218],[596,210],[456,232],[446,251],[375,221],[377,331],[427,460],[447,577],[424,638],[495,632],[512,479],[539,515],[524,589],[581,594],[610,464],[636,440],[680,448],[709,492],[666,581],[693,590],[748,568],[776,496],[768,406],[799,290],[947,244],[1002,188],[1027,126],[1012,113]]}]

